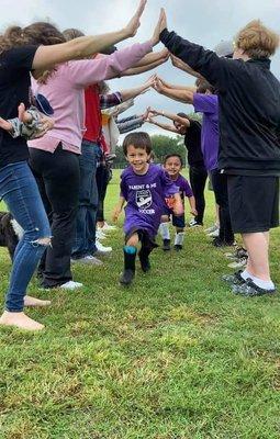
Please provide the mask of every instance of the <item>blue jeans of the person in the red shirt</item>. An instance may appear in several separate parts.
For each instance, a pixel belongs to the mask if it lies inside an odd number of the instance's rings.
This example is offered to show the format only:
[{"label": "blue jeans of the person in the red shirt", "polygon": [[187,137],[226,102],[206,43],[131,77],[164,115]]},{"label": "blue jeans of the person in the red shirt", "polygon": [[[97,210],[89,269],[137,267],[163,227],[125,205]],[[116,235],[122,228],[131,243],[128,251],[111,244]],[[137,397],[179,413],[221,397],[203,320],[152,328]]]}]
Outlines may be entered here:
[{"label": "blue jeans of the person in the red shirt", "polygon": [[92,255],[96,248],[96,224],[98,210],[97,166],[101,148],[97,143],[83,140],[81,144],[79,207],[72,258]]}]

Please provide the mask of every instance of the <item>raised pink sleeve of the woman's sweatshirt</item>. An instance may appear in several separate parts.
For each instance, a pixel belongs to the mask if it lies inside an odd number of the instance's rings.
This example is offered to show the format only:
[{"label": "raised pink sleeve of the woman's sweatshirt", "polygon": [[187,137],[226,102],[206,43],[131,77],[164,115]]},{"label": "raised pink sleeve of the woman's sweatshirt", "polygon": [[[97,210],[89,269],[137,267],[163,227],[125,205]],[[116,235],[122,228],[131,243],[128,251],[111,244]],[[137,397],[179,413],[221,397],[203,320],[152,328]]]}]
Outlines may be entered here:
[{"label": "raised pink sleeve of the woman's sweatshirt", "polygon": [[76,87],[86,88],[104,79],[115,78],[133,67],[152,49],[153,46],[148,41],[133,44],[102,58],[69,61],[68,79]]}]

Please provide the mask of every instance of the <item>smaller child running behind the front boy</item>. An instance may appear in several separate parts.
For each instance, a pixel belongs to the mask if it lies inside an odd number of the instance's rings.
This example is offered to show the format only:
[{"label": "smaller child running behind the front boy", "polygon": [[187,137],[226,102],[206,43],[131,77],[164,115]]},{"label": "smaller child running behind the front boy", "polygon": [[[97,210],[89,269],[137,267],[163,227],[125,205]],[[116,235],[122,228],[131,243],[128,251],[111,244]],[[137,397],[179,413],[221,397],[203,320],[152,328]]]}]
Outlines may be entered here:
[{"label": "smaller child running behind the front boy", "polygon": [[[175,182],[175,184],[179,188],[179,193],[182,200],[182,205],[184,204],[184,196],[189,199],[191,214],[198,215],[195,209],[195,200],[191,190],[191,187],[188,180],[180,175],[182,170],[182,158],[179,154],[169,154],[165,157],[164,168],[169,175],[170,179]],[[159,233],[163,237],[164,250],[170,250],[170,232],[169,232],[169,221],[170,216],[172,216],[172,225],[176,227],[176,236],[175,236],[175,250],[181,250],[183,244],[184,236],[184,213],[181,215],[173,215],[172,210],[169,206],[165,206],[164,215],[161,216],[161,224],[159,227]]]}]

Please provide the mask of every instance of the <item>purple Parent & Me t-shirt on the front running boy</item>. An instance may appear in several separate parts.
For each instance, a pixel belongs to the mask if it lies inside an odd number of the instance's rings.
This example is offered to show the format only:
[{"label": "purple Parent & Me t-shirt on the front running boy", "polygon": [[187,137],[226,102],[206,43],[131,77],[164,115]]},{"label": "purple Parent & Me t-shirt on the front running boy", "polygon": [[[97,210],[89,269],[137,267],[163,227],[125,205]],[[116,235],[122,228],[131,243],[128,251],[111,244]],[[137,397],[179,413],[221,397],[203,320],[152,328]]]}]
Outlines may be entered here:
[{"label": "purple Parent & Me t-shirt on the front running boy", "polygon": [[121,175],[121,196],[125,206],[124,233],[134,227],[157,234],[165,198],[179,192],[177,184],[159,166],[150,164],[144,176],[138,176],[130,166]]}]

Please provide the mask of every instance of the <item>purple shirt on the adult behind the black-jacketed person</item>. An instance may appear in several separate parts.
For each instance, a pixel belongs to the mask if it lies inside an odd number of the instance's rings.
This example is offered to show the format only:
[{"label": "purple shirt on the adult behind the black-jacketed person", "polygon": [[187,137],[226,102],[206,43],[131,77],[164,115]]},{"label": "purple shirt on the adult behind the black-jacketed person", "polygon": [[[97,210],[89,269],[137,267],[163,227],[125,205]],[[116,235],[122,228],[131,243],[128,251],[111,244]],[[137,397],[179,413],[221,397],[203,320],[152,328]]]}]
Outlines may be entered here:
[{"label": "purple shirt on the adult behind the black-jacketed person", "polygon": [[208,171],[217,168],[219,154],[219,98],[216,94],[193,94],[194,111],[203,113],[201,149]]}]

